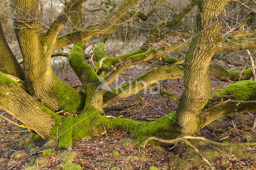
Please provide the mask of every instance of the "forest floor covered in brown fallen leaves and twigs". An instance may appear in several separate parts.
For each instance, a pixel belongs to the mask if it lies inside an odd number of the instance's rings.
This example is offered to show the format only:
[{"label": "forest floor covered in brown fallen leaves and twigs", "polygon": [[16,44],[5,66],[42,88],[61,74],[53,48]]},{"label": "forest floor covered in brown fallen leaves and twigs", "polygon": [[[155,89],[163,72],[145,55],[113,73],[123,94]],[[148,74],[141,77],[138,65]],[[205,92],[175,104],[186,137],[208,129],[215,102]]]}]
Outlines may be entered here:
[{"label": "forest floor covered in brown fallen leaves and twigs", "polygon": [[[120,81],[111,88],[127,83],[146,72],[146,65],[134,66],[124,72]],[[55,70],[62,81],[71,86],[80,85],[75,73],[66,67]],[[123,82],[123,80],[126,80]],[[212,88],[221,89],[230,82],[222,82],[211,77]],[[163,90],[180,97],[183,79],[160,81]],[[142,102],[122,111],[112,111],[106,115],[123,115],[139,121],[152,121],[175,111],[177,104],[158,94],[144,93]],[[136,101],[133,95],[116,105]],[[1,111],[6,118],[19,123],[8,113]],[[251,128],[254,112],[234,113],[222,117],[202,128],[196,135],[217,142],[256,141],[256,130]],[[216,169],[256,169],[256,146],[216,146],[199,140],[191,141],[200,153]],[[108,130],[103,136],[75,140],[68,150],[58,148],[56,140],[44,141],[34,133],[20,128],[0,117],[0,169],[111,169],[111,170],[169,170],[169,169],[209,169],[194,149],[178,143],[173,146],[147,145],[129,137],[126,130]]]}]

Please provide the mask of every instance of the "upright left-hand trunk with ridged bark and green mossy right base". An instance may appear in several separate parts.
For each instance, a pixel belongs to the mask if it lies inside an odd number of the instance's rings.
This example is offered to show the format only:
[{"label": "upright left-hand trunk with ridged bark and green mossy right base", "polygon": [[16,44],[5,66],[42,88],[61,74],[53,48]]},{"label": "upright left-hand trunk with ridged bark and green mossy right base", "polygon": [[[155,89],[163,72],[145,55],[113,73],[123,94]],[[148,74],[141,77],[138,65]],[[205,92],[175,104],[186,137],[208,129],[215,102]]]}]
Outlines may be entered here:
[{"label": "upright left-hand trunk with ridged bark and green mossy right base", "polygon": [[[38,25],[38,2],[18,0],[15,19],[16,36],[24,59],[26,90],[53,111],[64,109],[75,113],[84,106],[84,97],[60,81],[50,66],[53,41],[41,36]],[[24,11],[30,13],[24,13]],[[27,22],[20,18],[30,15]]]}]

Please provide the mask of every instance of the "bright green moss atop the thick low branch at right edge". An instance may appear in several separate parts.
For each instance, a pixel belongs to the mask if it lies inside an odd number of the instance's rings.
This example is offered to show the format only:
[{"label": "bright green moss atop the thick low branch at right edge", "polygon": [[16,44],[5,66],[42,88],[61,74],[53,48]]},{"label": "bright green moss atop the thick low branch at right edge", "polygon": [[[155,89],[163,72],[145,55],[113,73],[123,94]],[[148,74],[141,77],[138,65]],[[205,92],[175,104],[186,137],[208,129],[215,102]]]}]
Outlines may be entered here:
[{"label": "bright green moss atop the thick low branch at right edge", "polygon": [[223,90],[215,91],[214,95],[219,97],[234,95],[232,96],[234,97],[234,99],[240,100],[240,101],[246,101],[256,93],[256,81],[252,81],[252,80],[238,81],[236,83],[228,85]]}]

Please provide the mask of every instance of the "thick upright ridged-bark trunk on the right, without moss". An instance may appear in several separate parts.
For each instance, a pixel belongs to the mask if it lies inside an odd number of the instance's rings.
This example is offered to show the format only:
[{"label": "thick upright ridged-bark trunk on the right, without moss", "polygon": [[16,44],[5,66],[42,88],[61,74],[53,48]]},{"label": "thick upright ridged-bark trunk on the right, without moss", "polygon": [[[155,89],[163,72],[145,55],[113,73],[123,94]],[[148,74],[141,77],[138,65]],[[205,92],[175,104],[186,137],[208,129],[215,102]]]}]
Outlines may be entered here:
[{"label": "thick upright ridged-bark trunk on the right, without moss", "polygon": [[196,28],[184,63],[184,92],[177,109],[183,134],[200,128],[198,113],[211,97],[210,60],[220,41],[220,16],[226,0],[200,0]]}]

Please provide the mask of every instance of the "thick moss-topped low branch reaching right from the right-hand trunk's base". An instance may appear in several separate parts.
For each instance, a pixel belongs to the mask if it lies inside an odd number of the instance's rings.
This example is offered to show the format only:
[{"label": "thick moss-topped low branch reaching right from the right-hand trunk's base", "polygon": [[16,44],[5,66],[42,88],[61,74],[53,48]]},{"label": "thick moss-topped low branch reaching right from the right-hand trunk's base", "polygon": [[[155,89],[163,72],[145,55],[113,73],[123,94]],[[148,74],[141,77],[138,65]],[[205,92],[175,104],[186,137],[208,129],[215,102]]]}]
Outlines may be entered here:
[{"label": "thick moss-topped low branch reaching right from the right-hand trunk's base", "polygon": [[238,81],[215,91],[205,108],[200,113],[203,126],[233,112],[256,111],[256,82]]}]

